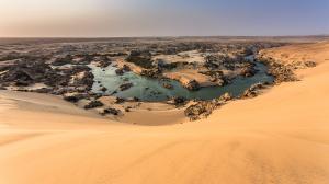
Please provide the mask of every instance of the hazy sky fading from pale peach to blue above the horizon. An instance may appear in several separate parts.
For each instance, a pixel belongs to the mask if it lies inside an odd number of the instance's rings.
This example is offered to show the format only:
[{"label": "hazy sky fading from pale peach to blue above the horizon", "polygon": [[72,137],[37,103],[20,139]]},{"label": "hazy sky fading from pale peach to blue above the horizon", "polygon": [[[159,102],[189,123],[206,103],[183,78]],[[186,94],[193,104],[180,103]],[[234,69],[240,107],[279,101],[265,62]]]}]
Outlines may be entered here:
[{"label": "hazy sky fading from pale peach to blue above the horizon", "polygon": [[329,34],[329,0],[0,0],[0,37]]}]

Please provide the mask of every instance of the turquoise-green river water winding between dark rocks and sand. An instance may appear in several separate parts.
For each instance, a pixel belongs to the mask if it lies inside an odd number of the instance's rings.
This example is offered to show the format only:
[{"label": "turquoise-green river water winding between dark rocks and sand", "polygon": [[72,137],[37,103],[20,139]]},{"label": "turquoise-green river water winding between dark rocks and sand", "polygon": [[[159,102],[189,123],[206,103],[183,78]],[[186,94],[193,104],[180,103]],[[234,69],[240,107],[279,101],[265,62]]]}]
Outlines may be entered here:
[{"label": "turquoise-green river water winding between dark rocks and sand", "polygon": [[[115,73],[116,68],[109,66],[107,68],[99,68],[95,66],[90,66],[92,68],[92,73],[94,74],[94,84],[92,91],[95,93],[103,93],[100,89],[105,87],[107,91],[105,94],[112,94],[118,97],[138,97],[141,101],[148,102],[160,102],[167,101],[173,96],[184,96],[186,99],[200,99],[200,100],[212,100],[216,99],[224,93],[228,92],[234,96],[239,96],[245,90],[250,88],[250,85],[258,82],[273,82],[274,78],[266,74],[266,66],[260,62],[256,62],[256,69],[259,70],[257,74],[250,78],[238,77],[231,81],[230,84],[225,87],[208,87],[202,88],[198,91],[189,91],[183,88],[178,81],[174,80],[159,80],[151,79],[135,74],[134,72],[126,72],[124,76],[117,76]],[[98,83],[97,81],[100,81]],[[163,88],[163,83],[170,83],[173,85],[172,90]],[[126,91],[120,91],[120,85],[123,83],[133,83],[134,87]],[[117,93],[114,93],[114,92]]]}]

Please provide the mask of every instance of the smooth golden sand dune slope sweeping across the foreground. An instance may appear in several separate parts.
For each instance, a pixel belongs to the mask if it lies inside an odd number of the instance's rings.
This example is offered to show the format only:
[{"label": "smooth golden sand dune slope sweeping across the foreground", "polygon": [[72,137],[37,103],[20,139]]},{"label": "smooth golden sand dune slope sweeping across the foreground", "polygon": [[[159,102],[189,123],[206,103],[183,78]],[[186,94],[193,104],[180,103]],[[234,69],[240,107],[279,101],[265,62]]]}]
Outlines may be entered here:
[{"label": "smooth golden sand dune slope sweeping across the foreground", "polygon": [[0,183],[327,184],[329,45],[269,51],[283,50],[320,65],[196,123],[123,125],[57,97],[0,92]]}]

